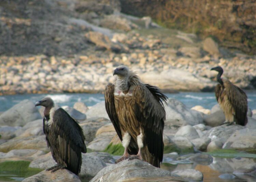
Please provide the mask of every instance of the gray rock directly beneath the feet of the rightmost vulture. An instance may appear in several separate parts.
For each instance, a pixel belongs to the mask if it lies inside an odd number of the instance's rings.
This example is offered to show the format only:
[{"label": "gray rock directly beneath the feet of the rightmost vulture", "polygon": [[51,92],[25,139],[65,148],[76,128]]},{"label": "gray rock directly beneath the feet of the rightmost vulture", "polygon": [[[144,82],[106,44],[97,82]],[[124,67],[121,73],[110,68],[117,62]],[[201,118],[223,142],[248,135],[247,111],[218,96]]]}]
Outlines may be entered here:
[{"label": "gray rock directly beneath the feet of the rightmost vulture", "polygon": [[241,130],[243,128],[245,128],[245,126],[221,125],[221,126],[216,126],[216,127],[211,128],[203,136],[211,138],[212,141],[218,140],[218,141],[221,141],[224,143],[236,130]]}]

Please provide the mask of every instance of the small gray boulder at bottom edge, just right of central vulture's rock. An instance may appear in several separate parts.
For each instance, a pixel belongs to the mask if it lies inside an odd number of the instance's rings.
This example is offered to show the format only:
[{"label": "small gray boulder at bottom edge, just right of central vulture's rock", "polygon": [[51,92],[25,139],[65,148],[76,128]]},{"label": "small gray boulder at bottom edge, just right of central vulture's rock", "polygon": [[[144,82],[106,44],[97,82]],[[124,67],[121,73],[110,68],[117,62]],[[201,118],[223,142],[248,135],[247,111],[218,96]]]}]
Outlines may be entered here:
[{"label": "small gray boulder at bottom edge, just right of central vulture's rock", "polygon": [[189,181],[203,181],[203,174],[199,170],[196,169],[185,169],[185,170],[175,170],[172,171],[174,174],[187,179]]}]

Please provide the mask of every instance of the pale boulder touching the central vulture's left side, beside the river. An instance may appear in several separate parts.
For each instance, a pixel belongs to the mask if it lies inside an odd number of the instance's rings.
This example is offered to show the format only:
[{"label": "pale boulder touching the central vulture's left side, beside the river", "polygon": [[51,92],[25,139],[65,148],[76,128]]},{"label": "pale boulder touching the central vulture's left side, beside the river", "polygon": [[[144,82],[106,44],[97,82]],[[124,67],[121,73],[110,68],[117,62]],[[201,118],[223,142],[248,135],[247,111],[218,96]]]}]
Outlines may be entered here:
[{"label": "pale boulder touching the central vulture's left side, beside the river", "polygon": [[106,112],[105,103],[97,103],[94,106],[92,106],[87,112],[86,112],[87,118],[91,117],[105,117],[106,119],[109,119],[109,115]]}]

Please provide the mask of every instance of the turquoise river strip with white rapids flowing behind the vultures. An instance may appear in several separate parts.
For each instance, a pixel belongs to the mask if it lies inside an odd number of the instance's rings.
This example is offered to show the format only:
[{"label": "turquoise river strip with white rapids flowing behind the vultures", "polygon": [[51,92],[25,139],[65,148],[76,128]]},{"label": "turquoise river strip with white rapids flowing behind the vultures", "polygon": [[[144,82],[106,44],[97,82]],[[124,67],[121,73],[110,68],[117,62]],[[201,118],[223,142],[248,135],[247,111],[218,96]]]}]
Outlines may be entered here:
[{"label": "turquoise river strip with white rapids flowing behind the vultures", "polygon": [[[246,91],[246,94],[248,96],[248,106],[251,109],[256,109],[256,90]],[[215,104],[217,104],[213,92],[180,92],[173,94],[167,93],[166,95],[181,101],[188,108],[201,105],[206,109],[211,109]],[[104,101],[103,94],[89,93],[4,95],[0,96],[0,112],[8,110],[24,99],[29,99],[35,103],[45,96],[51,96],[59,106],[70,107],[72,107],[75,102],[84,102],[87,106],[93,106]]]}]

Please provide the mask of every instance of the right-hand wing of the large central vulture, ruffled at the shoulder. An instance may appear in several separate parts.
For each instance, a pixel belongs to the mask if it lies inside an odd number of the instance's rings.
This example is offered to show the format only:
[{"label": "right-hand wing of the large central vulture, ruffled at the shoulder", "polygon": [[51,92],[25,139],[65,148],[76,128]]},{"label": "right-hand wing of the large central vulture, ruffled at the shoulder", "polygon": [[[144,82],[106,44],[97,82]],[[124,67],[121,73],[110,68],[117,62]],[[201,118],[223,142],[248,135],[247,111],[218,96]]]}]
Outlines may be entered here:
[{"label": "right-hand wing of the large central vulture, ruffled at the shoulder", "polygon": [[137,120],[141,122],[144,130],[144,142],[149,152],[163,159],[163,127],[166,117],[162,101],[167,97],[151,85],[138,85],[133,89],[134,112]]}]

